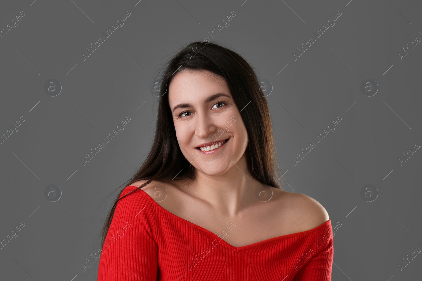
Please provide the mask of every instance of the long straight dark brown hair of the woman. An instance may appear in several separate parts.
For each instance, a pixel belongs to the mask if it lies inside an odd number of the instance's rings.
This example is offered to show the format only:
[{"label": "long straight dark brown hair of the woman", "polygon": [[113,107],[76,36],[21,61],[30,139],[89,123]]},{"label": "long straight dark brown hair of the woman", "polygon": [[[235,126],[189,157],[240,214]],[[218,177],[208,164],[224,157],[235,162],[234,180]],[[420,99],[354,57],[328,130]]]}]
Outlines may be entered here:
[{"label": "long straight dark brown hair of the woman", "polygon": [[[179,148],[166,92],[175,74],[184,70],[208,70],[225,78],[237,107],[243,109],[240,114],[249,138],[245,151],[249,172],[259,182],[282,189],[284,185],[278,181],[286,181],[281,176],[270,111],[254,70],[235,51],[216,43],[200,41],[187,44],[168,62],[160,82],[157,126],[151,150],[141,168],[122,186],[147,180],[138,187],[141,189],[152,181],[195,179],[195,167],[190,165]],[[117,202],[138,190],[119,199],[123,189],[108,213],[101,232],[100,247],[106,239]]]}]

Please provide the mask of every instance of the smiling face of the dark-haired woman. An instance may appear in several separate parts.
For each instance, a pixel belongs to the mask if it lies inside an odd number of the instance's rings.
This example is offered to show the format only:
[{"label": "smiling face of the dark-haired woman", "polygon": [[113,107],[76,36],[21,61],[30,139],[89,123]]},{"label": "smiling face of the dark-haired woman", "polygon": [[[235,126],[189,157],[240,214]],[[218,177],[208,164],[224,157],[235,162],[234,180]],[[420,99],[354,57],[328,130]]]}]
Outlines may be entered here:
[{"label": "smiling face of the dark-haired woman", "polygon": [[[178,72],[169,103],[180,150],[197,170],[217,176],[243,157],[248,135],[224,78],[207,70]],[[208,151],[198,148],[210,142]]]}]

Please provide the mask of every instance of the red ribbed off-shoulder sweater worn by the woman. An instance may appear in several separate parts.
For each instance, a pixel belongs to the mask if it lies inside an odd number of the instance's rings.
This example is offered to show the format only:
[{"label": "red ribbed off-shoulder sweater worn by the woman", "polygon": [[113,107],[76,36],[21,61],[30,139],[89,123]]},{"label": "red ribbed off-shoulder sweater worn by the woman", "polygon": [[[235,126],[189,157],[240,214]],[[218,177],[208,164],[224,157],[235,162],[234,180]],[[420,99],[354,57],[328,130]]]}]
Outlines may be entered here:
[{"label": "red ribbed off-shoulder sweater worn by the woman", "polygon": [[[120,198],[134,189],[125,187]],[[234,247],[137,190],[116,205],[97,280],[330,281],[333,254],[330,219],[310,230]]]}]

